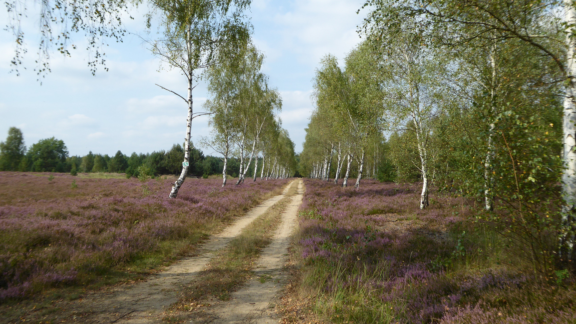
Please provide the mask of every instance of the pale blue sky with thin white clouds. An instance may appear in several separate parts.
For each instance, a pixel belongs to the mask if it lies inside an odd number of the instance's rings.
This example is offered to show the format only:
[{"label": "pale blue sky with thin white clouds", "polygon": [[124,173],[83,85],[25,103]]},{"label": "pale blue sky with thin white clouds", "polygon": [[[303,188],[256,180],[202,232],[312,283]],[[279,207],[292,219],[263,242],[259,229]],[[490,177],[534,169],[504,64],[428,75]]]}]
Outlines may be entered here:
[{"label": "pale blue sky with thin white clouds", "polygon": [[[356,33],[366,11],[356,14],[362,2],[296,0],[255,0],[248,15],[254,26],[253,42],[266,55],[264,73],[283,98],[281,118],[297,152],[302,150],[304,128],[313,104],[312,78],[320,58],[331,53],[342,59],[360,41]],[[32,9],[33,10],[33,9]],[[33,12],[33,11],[32,11]],[[128,21],[126,29],[146,36],[142,14]],[[160,61],[147,50],[139,37],[129,35],[124,43],[109,43],[107,67],[90,74],[86,51],[72,51],[71,57],[54,54],[52,72],[37,82],[35,67],[37,16],[24,22],[29,52],[27,70],[20,76],[10,73],[13,37],[0,31],[0,139],[10,126],[20,127],[26,145],[41,138],[63,140],[71,155],[94,153],[113,155],[117,150],[152,152],[183,142],[187,109],[184,101],[154,84],[181,94],[186,81],[176,70],[160,69]],[[0,21],[7,21],[6,12]],[[74,36],[81,44],[80,35]],[[147,37],[153,37],[149,35]],[[78,46],[83,48],[82,46]],[[204,84],[194,89],[195,111],[206,100]],[[194,119],[192,141],[209,133],[207,117]],[[205,154],[213,154],[202,148]]]}]

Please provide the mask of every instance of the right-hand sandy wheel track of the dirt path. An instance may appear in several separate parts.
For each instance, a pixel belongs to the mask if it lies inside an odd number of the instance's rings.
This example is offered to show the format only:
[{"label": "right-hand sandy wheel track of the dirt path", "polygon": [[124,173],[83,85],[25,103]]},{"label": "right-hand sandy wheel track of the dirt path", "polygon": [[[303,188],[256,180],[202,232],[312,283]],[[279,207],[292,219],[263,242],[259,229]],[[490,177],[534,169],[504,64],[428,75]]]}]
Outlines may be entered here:
[{"label": "right-hand sandy wheel track of the dirt path", "polygon": [[[206,310],[201,317],[188,319],[188,323],[210,324],[272,324],[279,321],[273,308],[279,290],[287,283],[288,247],[294,230],[298,208],[302,204],[303,183],[299,180],[297,194],[282,213],[282,223],[274,238],[256,263],[255,275],[228,302],[221,302]],[[263,280],[266,280],[265,282]]]}]

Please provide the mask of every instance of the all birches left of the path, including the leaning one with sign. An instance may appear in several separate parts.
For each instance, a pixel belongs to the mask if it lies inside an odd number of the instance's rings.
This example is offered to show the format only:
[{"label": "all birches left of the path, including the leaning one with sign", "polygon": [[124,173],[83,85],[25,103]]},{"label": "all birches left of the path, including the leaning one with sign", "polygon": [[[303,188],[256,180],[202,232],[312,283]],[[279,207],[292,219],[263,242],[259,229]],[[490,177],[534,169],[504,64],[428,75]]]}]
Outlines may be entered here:
[{"label": "all birches left of the path, including the leaning one with sign", "polygon": [[[201,139],[203,146],[223,156],[222,186],[230,156],[240,160],[236,184],[244,182],[255,164],[253,180],[260,166],[264,178],[294,174],[294,144],[281,129],[275,114],[281,110],[279,92],[268,85],[260,71],[264,56],[251,44],[252,25],[245,11],[249,0],[151,0],[149,27],[160,17],[164,37],[150,42],[152,52],[170,68],[181,71],[187,83],[187,95],[181,96],[188,107],[184,138],[183,168],[172,186],[170,198],[176,198],[190,167],[192,120],[210,115],[212,131]],[[203,111],[193,109],[193,90],[199,78],[209,84],[213,96]],[[286,147],[289,146],[289,147]]]}]

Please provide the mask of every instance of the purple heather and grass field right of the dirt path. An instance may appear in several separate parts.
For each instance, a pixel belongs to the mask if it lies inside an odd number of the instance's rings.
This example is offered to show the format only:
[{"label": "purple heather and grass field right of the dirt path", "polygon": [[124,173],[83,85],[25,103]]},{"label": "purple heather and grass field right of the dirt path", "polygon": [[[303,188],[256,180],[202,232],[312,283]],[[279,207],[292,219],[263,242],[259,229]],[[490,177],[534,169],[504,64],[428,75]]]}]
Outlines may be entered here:
[{"label": "purple heather and grass field right of the dirt path", "polygon": [[332,321],[576,323],[574,282],[499,261],[462,198],[433,192],[419,210],[418,184],[305,185],[296,251]]}]

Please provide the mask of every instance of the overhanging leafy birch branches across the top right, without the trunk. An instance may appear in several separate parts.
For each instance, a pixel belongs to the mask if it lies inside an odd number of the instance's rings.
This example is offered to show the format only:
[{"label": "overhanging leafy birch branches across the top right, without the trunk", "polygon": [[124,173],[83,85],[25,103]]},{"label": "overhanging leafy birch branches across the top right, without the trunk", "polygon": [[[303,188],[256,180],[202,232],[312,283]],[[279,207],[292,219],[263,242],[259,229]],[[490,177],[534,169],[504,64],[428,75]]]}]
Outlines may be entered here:
[{"label": "overhanging leafy birch branches across the top right, without the trunk", "polygon": [[404,21],[413,20],[415,31],[459,50],[515,40],[539,51],[565,77],[562,6],[558,0],[368,0],[363,7],[372,10],[362,29],[374,38],[394,38]]}]

